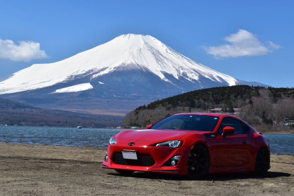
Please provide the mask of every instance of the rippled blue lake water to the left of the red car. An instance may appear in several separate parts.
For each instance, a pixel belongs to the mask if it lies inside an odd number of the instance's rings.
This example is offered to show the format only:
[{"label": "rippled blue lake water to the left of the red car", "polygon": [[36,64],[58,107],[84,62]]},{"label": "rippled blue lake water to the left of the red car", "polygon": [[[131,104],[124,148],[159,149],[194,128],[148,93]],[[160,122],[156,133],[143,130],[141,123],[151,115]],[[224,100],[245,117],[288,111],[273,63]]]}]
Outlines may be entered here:
[{"label": "rippled blue lake water to the left of the red car", "polygon": [[0,126],[0,142],[107,147],[122,129]]}]

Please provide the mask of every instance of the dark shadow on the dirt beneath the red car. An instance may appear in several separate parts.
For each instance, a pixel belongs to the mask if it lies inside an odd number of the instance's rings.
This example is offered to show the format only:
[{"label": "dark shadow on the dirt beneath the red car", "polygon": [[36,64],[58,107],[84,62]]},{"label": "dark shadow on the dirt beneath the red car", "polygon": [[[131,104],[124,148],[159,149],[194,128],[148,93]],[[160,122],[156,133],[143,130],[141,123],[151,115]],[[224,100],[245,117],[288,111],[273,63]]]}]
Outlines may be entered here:
[{"label": "dark shadow on the dirt beneath the red car", "polygon": [[[113,176],[125,176],[133,178],[146,178],[146,179],[160,179],[160,180],[192,180],[187,176],[183,175],[170,175],[170,174],[160,174],[160,173],[149,173],[149,172],[135,172],[132,174],[120,174],[120,173],[108,173],[108,175]],[[226,181],[226,180],[241,180],[241,179],[265,179],[265,178],[275,178],[275,177],[289,177],[291,174],[284,172],[267,172],[265,176],[255,176],[252,173],[235,173],[235,174],[210,174],[203,177],[202,181]]]}]

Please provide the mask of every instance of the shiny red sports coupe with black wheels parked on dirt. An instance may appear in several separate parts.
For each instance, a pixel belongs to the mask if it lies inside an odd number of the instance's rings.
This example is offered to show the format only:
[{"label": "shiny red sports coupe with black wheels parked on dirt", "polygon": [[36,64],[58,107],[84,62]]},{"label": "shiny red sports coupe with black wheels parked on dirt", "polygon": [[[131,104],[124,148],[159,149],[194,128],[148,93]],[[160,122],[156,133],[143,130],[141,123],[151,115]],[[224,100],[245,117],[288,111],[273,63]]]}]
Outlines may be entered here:
[{"label": "shiny red sports coupe with black wheels parked on dirt", "polygon": [[270,148],[261,134],[231,115],[175,114],[146,130],[125,130],[111,137],[102,167],[125,174],[157,172],[194,179],[208,173],[265,175]]}]

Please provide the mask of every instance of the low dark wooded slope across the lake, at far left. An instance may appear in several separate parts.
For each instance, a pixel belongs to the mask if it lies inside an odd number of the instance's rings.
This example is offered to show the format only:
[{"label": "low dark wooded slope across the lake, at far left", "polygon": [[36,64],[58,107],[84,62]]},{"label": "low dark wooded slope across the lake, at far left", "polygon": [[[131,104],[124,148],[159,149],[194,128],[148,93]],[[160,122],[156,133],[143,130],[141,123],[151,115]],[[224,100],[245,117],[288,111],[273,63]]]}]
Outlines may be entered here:
[{"label": "low dark wooded slope across the lake, at far left", "polygon": [[121,126],[122,120],[117,116],[49,110],[0,99],[0,124],[102,128]]}]

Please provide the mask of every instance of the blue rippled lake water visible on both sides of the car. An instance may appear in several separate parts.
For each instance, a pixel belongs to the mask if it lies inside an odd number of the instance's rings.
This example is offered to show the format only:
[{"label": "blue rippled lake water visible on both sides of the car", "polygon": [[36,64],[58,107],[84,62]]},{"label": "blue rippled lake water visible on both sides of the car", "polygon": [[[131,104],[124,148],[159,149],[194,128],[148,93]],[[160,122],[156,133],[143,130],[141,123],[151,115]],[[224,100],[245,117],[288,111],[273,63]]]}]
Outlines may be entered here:
[{"label": "blue rippled lake water visible on both sides of the car", "polygon": [[[123,129],[0,126],[0,142],[106,148],[109,138]],[[294,155],[294,135],[264,134],[271,154]]]}]

